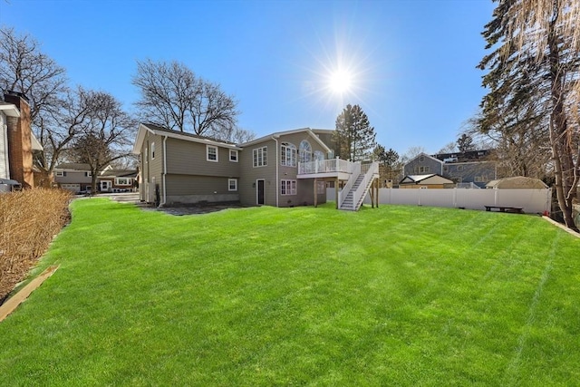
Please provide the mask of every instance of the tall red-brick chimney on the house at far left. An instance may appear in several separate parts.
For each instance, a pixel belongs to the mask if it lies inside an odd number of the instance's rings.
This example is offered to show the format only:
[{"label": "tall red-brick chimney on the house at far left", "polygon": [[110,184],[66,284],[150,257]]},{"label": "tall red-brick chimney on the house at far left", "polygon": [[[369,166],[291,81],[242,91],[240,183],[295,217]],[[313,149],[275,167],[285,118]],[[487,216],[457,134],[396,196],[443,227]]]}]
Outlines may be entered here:
[{"label": "tall red-brick chimney on the house at far left", "polygon": [[10,179],[18,180],[23,188],[32,188],[33,147],[28,98],[22,92],[9,91],[5,92],[4,101],[13,103],[20,111],[20,117],[6,117]]}]

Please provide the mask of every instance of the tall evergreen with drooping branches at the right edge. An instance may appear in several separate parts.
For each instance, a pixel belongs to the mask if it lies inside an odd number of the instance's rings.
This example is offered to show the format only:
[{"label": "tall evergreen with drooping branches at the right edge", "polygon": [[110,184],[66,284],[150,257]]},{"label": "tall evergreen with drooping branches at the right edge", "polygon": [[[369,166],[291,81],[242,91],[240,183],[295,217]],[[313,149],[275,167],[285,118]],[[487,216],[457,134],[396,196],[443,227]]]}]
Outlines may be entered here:
[{"label": "tall evergreen with drooping branches at the right edge", "polygon": [[[575,228],[572,204],[580,175],[580,3],[576,0],[498,0],[483,35],[487,49],[479,68],[483,85],[479,130],[499,140],[537,142],[546,150],[556,180],[558,205]],[[522,157],[529,157],[527,152]],[[536,156],[533,156],[536,157]],[[546,166],[548,168],[548,166]]]}]

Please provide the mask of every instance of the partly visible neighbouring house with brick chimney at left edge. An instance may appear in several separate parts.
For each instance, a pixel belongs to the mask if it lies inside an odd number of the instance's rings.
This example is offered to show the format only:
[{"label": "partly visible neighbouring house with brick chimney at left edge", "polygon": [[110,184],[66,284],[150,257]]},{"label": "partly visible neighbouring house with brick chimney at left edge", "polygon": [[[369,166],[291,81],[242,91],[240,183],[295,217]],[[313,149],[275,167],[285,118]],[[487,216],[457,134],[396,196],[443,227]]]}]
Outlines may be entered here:
[{"label": "partly visible neighbouring house with brick chimney at left edge", "polygon": [[42,150],[31,128],[30,106],[21,92],[6,92],[0,101],[0,179],[34,187],[33,153]]}]

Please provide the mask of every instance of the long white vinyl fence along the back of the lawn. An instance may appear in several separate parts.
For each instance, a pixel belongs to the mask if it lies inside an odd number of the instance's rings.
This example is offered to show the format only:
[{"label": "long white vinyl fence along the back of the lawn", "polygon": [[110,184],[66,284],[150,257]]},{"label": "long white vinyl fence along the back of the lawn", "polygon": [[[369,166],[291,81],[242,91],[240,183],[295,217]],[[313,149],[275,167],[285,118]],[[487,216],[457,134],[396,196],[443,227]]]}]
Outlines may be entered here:
[{"label": "long white vinyl fence along the back of the lawn", "polygon": [[[326,199],[334,200],[334,189],[326,189]],[[552,189],[379,189],[379,204],[467,208],[485,206],[521,207],[527,214],[550,211]],[[367,195],[365,204],[371,204]]]}]

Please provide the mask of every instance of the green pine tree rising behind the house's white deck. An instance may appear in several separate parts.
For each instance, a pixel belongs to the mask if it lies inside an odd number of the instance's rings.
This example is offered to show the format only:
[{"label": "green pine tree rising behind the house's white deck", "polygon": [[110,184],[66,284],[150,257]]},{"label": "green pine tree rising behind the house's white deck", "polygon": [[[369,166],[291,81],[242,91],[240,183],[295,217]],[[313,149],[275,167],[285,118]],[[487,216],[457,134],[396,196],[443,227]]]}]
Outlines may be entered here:
[{"label": "green pine tree rising behind the house's white deck", "polygon": [[371,156],[376,133],[359,105],[348,104],[336,118],[333,134],[336,156],[362,161]]}]

